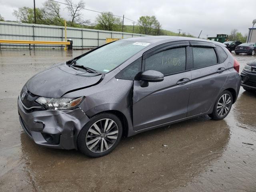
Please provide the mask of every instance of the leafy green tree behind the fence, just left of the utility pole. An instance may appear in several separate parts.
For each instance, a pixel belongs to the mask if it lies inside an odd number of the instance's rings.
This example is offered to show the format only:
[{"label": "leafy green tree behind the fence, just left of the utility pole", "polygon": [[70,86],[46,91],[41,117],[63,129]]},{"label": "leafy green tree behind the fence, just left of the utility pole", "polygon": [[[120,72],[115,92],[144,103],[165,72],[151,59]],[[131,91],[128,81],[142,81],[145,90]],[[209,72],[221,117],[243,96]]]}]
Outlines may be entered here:
[{"label": "leafy green tree behind the fence, just left of the utility pole", "polygon": [[112,12],[104,12],[96,16],[96,29],[119,31],[121,26],[121,19],[113,16]]}]

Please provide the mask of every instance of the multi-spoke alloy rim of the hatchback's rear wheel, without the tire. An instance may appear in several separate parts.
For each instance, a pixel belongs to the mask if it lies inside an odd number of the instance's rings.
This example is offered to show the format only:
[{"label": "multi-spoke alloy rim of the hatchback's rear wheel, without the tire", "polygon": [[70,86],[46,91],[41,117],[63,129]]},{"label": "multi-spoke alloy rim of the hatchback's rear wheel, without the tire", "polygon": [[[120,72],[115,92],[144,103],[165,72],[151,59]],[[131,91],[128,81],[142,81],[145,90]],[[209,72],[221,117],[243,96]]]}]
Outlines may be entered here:
[{"label": "multi-spoke alloy rim of the hatchback's rear wheel, without the tire", "polygon": [[217,104],[217,114],[220,117],[225,116],[231,108],[231,98],[229,94],[224,94],[220,97]]}]

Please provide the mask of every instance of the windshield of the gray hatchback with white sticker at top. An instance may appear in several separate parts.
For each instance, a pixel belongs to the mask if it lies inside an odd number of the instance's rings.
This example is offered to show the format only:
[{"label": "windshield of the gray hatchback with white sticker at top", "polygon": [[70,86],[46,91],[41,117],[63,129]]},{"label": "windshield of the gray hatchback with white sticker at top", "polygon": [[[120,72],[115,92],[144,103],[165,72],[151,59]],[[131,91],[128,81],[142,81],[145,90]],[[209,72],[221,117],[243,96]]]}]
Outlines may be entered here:
[{"label": "windshield of the gray hatchback with white sticker at top", "polygon": [[98,48],[76,60],[76,65],[85,66],[93,70],[107,73],[150,43],[120,40]]}]

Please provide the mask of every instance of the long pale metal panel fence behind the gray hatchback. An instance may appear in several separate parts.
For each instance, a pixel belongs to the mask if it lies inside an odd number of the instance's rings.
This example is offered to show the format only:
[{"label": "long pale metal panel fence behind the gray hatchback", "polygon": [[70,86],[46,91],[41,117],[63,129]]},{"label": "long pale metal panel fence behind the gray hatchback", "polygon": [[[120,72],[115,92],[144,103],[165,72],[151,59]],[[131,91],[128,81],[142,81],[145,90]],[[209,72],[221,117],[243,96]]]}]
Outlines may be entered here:
[{"label": "long pale metal panel fence behind the gray hatchback", "polygon": [[[130,38],[146,36],[143,34],[122,33],[94,29],[67,27],[67,39],[73,40],[75,49],[95,48],[106,43],[106,38]],[[22,24],[16,22],[0,22],[0,39],[7,40],[39,40],[64,41],[64,26],[40,24]],[[1,48],[28,47],[27,44],[1,44]],[[60,45],[32,45],[35,48],[63,48]]]}]

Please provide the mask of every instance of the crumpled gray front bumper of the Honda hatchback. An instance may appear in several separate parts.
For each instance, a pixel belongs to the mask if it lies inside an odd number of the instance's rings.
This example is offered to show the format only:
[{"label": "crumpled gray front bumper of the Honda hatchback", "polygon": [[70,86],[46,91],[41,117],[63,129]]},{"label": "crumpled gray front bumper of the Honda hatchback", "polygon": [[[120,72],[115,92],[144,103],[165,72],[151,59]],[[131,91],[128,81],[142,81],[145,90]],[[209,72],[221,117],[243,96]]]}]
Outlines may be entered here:
[{"label": "crumpled gray front bumper of the Honda hatchback", "polygon": [[90,119],[80,108],[73,110],[27,110],[18,98],[20,124],[41,146],[77,149],[76,138]]}]

